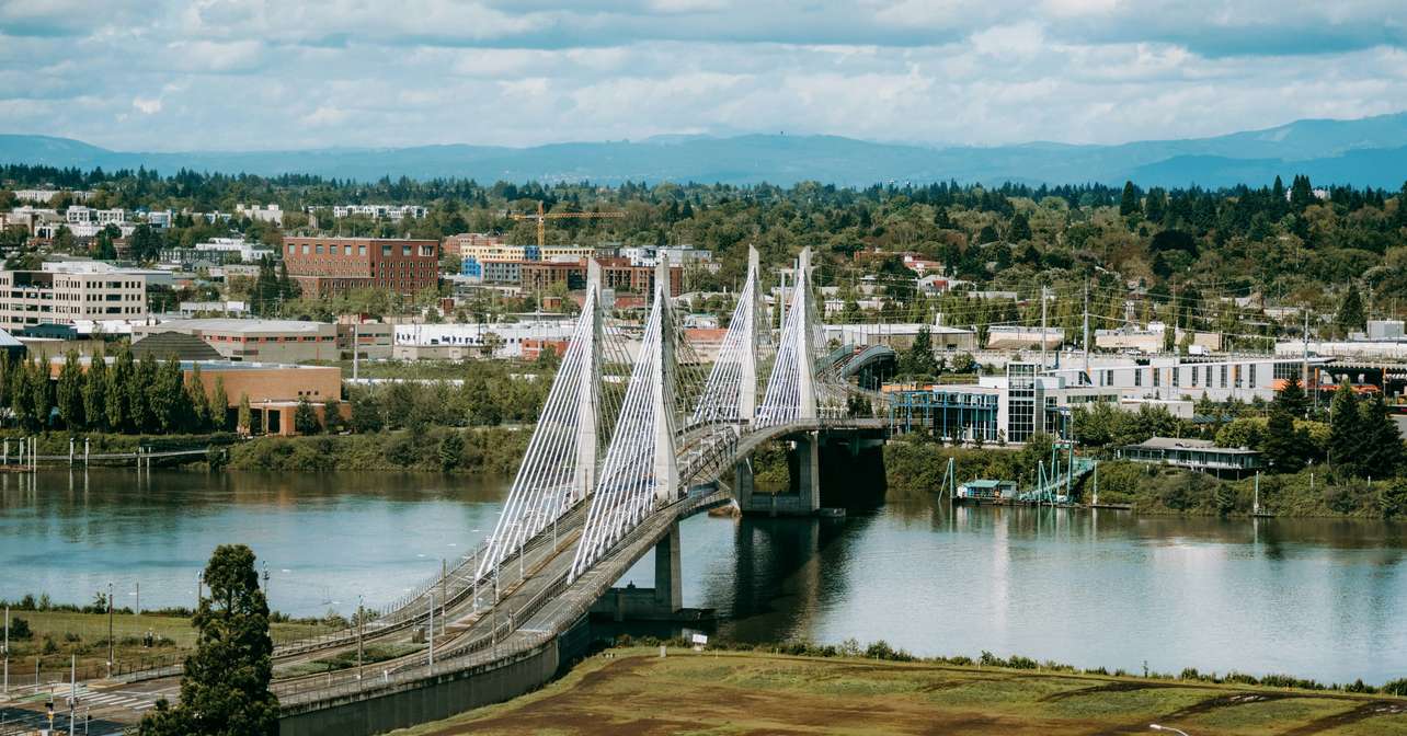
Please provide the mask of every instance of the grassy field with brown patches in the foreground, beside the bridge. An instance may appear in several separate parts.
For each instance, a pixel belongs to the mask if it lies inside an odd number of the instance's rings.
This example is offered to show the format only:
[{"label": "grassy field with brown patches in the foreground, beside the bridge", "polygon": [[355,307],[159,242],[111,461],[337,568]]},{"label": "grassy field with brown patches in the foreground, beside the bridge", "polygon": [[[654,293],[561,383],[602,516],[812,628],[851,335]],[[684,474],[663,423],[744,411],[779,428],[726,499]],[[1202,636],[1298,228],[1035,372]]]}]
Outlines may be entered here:
[{"label": "grassy field with brown patches in the foreground, beside the bridge", "polygon": [[[1009,664],[1009,663],[1006,663]],[[1034,663],[1031,663],[1034,666]],[[402,736],[509,733],[1407,735],[1407,699],[936,661],[608,650],[537,692]]]}]

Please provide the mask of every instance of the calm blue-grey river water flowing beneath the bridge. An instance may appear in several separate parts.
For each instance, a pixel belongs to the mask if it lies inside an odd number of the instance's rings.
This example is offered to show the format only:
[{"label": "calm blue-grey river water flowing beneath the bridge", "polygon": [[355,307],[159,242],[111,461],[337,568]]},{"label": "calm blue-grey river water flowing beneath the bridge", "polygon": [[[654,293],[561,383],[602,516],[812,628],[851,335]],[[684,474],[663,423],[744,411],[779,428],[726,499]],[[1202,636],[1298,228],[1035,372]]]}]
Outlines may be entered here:
[{"label": "calm blue-grey river water flowing beneath the bridge", "polygon": [[[191,605],[221,542],[267,563],[274,608],[378,605],[491,529],[505,484],[426,474],[131,470],[0,476],[0,597]],[[1407,525],[957,511],[682,526],[684,602],[733,639],[885,639],[920,654],[1407,677]],[[650,559],[629,580],[651,584]]]}]

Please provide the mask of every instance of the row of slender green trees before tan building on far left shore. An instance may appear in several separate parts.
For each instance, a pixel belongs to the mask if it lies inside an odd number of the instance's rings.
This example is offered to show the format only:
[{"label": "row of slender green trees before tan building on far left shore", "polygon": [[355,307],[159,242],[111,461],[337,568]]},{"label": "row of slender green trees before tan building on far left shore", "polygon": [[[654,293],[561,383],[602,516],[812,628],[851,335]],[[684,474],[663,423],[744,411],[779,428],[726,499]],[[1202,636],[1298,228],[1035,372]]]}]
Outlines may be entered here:
[{"label": "row of slender green trees before tan building on far left shore", "polygon": [[11,362],[0,356],[0,405],[30,432],[69,429],[114,433],[203,433],[228,429],[228,397],[221,377],[207,394],[200,366],[190,379],[174,356],[134,359],[125,345],[111,362],[97,353],[65,356],[52,379],[46,356]]}]

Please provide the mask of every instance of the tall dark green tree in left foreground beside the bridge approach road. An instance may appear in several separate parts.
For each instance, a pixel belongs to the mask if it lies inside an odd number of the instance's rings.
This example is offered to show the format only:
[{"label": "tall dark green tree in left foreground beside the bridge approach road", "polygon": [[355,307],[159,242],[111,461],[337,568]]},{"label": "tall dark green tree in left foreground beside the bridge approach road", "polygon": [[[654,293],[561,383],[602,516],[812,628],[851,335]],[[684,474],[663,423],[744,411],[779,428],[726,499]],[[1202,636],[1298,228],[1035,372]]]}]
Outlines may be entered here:
[{"label": "tall dark green tree in left foreground beside the bridge approach road", "polygon": [[215,547],[205,566],[210,597],[194,616],[196,652],[186,657],[180,704],[165,699],[142,716],[142,736],[255,736],[279,733],[269,601],[259,590],[255,553],[243,545]]}]

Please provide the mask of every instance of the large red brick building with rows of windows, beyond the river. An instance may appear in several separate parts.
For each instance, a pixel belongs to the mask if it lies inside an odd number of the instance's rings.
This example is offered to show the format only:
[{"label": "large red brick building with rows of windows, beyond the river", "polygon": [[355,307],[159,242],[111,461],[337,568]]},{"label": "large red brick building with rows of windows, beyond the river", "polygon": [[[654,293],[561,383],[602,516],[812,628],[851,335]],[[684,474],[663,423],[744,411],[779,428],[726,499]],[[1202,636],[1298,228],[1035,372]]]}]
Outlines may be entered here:
[{"label": "large red brick building with rows of windows, beyond the river", "polygon": [[411,294],[439,284],[439,241],[284,238],[283,260],[305,294],[352,288]]}]

